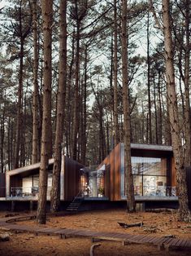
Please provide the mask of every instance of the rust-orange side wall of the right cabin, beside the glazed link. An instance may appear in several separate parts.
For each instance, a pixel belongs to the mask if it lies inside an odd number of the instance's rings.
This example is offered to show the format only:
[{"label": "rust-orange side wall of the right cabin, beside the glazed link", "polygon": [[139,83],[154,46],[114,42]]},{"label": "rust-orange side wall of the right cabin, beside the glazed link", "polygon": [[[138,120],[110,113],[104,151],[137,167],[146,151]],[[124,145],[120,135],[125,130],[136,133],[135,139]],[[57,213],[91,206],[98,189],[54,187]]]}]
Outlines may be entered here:
[{"label": "rust-orange side wall of the right cabin, beside the glazed link", "polygon": [[[121,200],[120,196],[120,148],[119,143],[106,157],[103,164],[106,165],[105,191],[111,201]],[[108,177],[109,173],[109,177]],[[109,180],[110,179],[110,180]]]}]

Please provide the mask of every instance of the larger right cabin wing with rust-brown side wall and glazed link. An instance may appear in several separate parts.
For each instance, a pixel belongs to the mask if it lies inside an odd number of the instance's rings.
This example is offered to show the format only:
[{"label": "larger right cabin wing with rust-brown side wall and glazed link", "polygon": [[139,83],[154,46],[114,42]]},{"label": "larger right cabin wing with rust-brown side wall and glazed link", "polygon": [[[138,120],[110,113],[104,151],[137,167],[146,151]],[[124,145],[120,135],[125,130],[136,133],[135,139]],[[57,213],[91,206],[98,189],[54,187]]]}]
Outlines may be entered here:
[{"label": "larger right cabin wing with rust-brown side wall and glazed link", "polygon": [[[136,200],[177,200],[172,148],[132,143],[131,154]],[[89,197],[101,196],[101,191],[110,201],[124,201],[124,143],[119,143],[96,170],[85,168],[82,177],[81,187],[88,184]]]}]

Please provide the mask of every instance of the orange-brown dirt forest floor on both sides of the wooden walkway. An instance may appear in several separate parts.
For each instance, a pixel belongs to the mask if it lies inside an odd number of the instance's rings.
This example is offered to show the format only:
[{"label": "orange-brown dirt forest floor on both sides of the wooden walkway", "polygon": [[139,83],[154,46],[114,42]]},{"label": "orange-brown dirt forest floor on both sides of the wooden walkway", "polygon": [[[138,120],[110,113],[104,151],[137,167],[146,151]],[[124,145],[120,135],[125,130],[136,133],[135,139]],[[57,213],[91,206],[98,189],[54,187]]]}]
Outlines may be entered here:
[{"label": "orange-brown dirt forest floor on both sides of the wooden walkway", "polygon": [[[0,212],[0,217],[8,213]],[[10,213],[9,213],[10,214]],[[21,213],[20,213],[21,214]],[[36,214],[36,213],[34,213]],[[139,223],[142,227],[119,227],[121,223]],[[34,220],[23,221],[22,224],[37,225]],[[20,225],[20,223],[17,223]],[[145,213],[127,214],[124,210],[98,210],[79,214],[48,216],[43,227],[65,227],[102,232],[121,232],[132,234],[152,234],[153,236],[174,235],[180,238],[191,239],[191,223],[177,221],[176,213]],[[8,232],[0,230],[1,233]],[[59,236],[35,236],[28,233],[12,233],[10,241],[0,242],[1,256],[61,256],[61,255],[89,255],[92,244],[90,238],[68,237],[60,239]],[[158,251],[154,245],[128,244],[122,245],[119,241],[99,241],[99,247],[93,251],[93,255],[191,255],[188,250],[171,250],[170,252]]]}]

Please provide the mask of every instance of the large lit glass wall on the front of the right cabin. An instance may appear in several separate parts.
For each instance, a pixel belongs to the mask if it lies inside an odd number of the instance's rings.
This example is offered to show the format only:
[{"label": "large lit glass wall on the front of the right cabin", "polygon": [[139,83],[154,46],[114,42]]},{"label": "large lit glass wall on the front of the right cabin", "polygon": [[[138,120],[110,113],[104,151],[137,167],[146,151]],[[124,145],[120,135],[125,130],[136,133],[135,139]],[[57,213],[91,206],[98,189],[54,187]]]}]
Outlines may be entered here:
[{"label": "large lit glass wall on the front of the right cabin", "polygon": [[135,196],[167,196],[167,158],[132,157]]}]

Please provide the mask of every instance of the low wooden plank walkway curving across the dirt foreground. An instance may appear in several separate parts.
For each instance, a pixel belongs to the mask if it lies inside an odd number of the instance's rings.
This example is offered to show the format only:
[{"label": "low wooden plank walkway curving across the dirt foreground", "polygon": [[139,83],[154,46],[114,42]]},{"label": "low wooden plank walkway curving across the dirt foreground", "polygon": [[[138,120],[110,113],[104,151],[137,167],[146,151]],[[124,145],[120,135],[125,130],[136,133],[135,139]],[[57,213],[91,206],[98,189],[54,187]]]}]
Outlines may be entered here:
[{"label": "low wooden plank walkway curving across the dirt foreground", "polygon": [[34,215],[14,216],[7,218],[0,218],[0,227],[6,228],[13,232],[30,232],[37,236],[40,234],[48,236],[60,236],[67,238],[70,236],[90,237],[92,241],[121,241],[123,245],[129,243],[156,245],[158,249],[191,249],[191,240],[179,239],[170,237],[158,237],[150,235],[133,235],[129,233],[118,232],[93,232],[81,229],[68,229],[59,227],[31,227],[15,223],[24,219],[33,219]]}]

